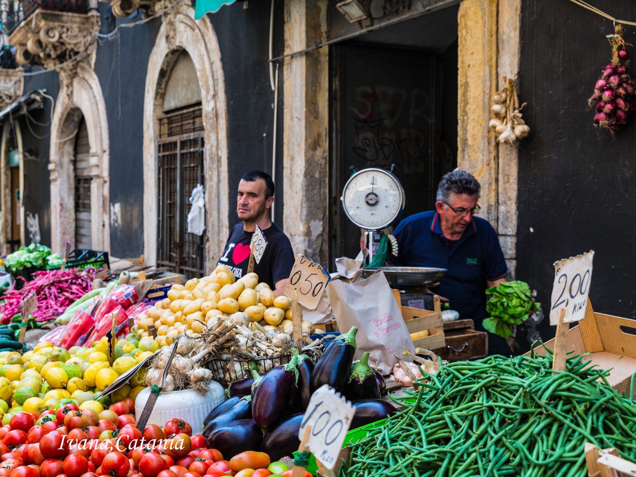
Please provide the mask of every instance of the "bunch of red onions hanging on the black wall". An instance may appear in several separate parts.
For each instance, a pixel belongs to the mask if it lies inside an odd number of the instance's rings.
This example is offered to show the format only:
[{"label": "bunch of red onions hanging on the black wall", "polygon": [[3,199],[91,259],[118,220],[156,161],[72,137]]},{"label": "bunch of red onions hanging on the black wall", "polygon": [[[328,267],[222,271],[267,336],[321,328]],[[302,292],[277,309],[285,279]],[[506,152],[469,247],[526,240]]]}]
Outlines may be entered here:
[{"label": "bunch of red onions hanging on the black wall", "polygon": [[621,61],[628,61],[629,53],[625,49],[625,28],[616,25],[613,35],[607,35],[612,45],[612,62],[603,68],[600,78],[594,86],[594,94],[588,100],[590,106],[596,103],[594,125],[614,132],[627,122],[627,118],[636,111],[636,104],[630,98],[636,93],[636,81],[630,78],[628,69]]}]

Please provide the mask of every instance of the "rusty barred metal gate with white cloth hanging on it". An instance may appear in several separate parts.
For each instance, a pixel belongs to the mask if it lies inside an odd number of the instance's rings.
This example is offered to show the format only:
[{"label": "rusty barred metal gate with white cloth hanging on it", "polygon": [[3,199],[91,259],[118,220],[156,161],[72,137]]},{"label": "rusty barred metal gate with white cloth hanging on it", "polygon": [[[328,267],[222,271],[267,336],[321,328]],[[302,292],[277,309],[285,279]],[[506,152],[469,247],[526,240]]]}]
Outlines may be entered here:
[{"label": "rusty barred metal gate with white cloth hanging on it", "polygon": [[[159,120],[157,266],[188,277],[204,274],[204,237],[186,232],[190,194],[204,184],[201,107]],[[205,185],[205,184],[204,184]]]}]

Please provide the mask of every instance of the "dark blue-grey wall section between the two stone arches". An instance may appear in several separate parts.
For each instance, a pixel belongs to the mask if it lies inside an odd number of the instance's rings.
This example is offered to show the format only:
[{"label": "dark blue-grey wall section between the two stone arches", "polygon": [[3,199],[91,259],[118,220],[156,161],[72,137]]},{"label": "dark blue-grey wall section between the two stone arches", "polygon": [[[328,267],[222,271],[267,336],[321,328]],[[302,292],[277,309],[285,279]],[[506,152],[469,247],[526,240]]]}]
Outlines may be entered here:
[{"label": "dark blue-grey wall section between the two stone arches", "polygon": [[[99,8],[104,34],[142,19],[141,14],[116,18],[108,3],[100,2]],[[144,89],[160,27],[161,19],[155,18],[122,28],[112,39],[100,39],[103,44],[97,47],[95,74],[104,94],[110,139],[111,254],[119,258],[135,258],[144,252]]]}]

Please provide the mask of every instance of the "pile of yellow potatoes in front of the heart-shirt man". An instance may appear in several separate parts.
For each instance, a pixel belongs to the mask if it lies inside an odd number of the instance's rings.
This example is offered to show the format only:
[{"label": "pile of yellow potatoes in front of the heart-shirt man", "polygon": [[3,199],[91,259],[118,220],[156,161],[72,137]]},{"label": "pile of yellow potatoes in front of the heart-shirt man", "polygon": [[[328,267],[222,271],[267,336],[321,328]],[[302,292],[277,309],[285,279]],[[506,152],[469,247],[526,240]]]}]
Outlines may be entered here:
[{"label": "pile of yellow potatoes in front of the heart-shirt man", "polygon": [[[247,273],[236,280],[225,265],[218,265],[207,277],[190,279],[184,285],[174,284],[168,298],[149,308],[147,317],[139,319],[138,324],[146,333],[148,326],[154,324],[156,342],[167,346],[182,333],[193,336],[204,332],[207,326],[216,323],[216,315],[236,312],[245,312],[251,322],[258,322],[271,333],[292,334],[291,300],[284,295],[274,298],[269,285],[258,282],[256,273]],[[308,321],[303,320],[302,326],[324,333]]]}]

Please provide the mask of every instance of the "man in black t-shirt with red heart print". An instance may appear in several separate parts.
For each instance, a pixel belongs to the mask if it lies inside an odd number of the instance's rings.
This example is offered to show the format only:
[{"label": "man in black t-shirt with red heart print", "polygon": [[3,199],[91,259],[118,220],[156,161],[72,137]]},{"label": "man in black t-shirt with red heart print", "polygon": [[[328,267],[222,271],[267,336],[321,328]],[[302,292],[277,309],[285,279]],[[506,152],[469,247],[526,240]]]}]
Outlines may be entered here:
[{"label": "man in black t-shirt with red heart print", "polygon": [[247,273],[252,234],[259,225],[267,240],[261,263],[254,263],[259,282],[268,284],[274,296],[282,295],[294,266],[294,252],[287,235],[272,222],[270,209],[274,202],[272,177],[260,170],[246,172],[239,183],[237,214],[243,223],[230,230],[223,255],[217,265],[226,265],[239,279]]}]

